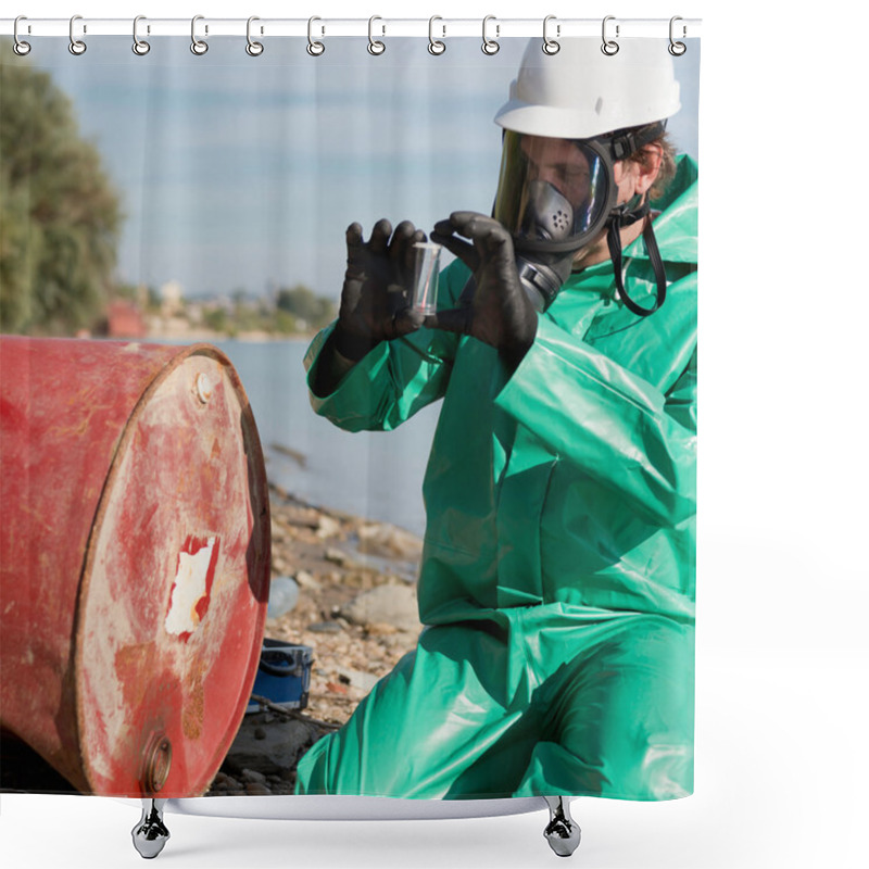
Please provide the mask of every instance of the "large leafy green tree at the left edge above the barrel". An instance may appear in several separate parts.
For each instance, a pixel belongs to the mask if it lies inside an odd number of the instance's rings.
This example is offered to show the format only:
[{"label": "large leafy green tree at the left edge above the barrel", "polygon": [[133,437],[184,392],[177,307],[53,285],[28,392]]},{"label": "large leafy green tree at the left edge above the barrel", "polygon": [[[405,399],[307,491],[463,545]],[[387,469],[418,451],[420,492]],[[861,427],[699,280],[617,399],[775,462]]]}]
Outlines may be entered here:
[{"label": "large leafy green tree at the left edge above the barrel", "polygon": [[70,333],[111,288],[118,197],[51,76],[0,52],[0,330]]}]

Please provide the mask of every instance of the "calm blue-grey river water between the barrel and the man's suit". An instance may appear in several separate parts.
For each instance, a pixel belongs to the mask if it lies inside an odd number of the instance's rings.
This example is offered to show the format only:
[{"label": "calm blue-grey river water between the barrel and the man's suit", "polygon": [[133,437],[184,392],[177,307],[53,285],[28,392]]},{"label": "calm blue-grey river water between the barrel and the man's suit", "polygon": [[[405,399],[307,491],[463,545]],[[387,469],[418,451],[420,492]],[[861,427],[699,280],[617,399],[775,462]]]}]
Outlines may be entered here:
[{"label": "calm blue-grey river water between the barrel and the man's suit", "polygon": [[423,476],[439,403],[394,431],[341,431],[311,408],[302,364],[307,340],[212,343],[241,377],[272,482],[317,506],[392,522],[421,536]]}]

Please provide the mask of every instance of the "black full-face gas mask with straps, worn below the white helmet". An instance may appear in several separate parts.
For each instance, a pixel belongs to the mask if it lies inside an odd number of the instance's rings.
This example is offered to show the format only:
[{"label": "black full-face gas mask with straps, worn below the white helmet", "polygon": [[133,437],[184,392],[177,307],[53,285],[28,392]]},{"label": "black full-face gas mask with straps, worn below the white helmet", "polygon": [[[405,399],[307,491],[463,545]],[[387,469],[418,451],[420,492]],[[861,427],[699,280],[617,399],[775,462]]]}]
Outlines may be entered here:
[{"label": "black full-face gas mask with straps, worn below the white helmet", "polygon": [[516,266],[529,298],[545,311],[570,274],[574,257],[606,230],[616,289],[626,306],[647,316],[664,303],[666,275],[652,224],[643,237],[657,282],[651,308],[625,291],[622,227],[648,214],[644,197],[617,204],[613,166],[654,141],[664,123],[619,130],[593,139],[556,139],[504,131],[498,194],[492,216],[513,236]]}]

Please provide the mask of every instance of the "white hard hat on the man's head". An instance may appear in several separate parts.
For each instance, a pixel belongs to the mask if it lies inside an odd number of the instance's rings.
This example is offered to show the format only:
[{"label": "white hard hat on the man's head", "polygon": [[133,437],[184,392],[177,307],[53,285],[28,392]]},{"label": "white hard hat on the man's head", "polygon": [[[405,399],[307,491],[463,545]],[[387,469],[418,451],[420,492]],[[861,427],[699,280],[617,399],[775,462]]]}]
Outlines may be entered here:
[{"label": "white hard hat on the man's head", "polygon": [[539,39],[529,42],[495,123],[532,136],[589,139],[679,111],[666,40],[621,39],[612,55],[601,51],[596,38],[559,45],[557,54],[544,54]]}]

